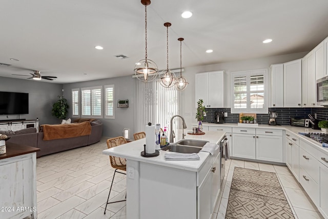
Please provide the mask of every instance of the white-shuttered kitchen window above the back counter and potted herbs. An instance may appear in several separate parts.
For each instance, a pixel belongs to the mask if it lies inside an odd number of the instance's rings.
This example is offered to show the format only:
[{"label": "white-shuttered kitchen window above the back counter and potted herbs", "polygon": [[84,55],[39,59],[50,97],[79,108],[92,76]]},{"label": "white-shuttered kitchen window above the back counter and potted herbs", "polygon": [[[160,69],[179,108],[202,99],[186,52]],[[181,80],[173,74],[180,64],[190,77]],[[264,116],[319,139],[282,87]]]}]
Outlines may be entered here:
[{"label": "white-shuttered kitchen window above the back counter and potted herbs", "polygon": [[231,112],[268,113],[267,69],[231,73]]}]

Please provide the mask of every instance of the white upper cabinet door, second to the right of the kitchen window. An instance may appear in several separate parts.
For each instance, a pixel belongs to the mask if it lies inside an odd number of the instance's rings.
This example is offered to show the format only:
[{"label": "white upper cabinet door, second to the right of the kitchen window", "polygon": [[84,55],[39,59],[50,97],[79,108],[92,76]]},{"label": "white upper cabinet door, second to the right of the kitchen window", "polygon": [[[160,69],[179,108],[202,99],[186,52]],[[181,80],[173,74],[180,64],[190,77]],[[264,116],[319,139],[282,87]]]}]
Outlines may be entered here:
[{"label": "white upper cabinet door, second to the right of the kitchen window", "polygon": [[283,106],[302,105],[302,59],[283,64]]}]

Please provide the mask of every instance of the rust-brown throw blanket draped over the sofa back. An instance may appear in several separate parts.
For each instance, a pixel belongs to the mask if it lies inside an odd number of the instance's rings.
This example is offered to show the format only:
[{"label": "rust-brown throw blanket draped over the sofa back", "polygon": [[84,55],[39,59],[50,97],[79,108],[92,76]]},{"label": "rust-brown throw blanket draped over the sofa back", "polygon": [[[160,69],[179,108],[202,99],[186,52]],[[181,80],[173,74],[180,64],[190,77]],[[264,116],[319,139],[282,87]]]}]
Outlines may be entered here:
[{"label": "rust-brown throw blanket draped over the sofa back", "polygon": [[44,141],[91,134],[89,122],[41,126],[43,127]]}]

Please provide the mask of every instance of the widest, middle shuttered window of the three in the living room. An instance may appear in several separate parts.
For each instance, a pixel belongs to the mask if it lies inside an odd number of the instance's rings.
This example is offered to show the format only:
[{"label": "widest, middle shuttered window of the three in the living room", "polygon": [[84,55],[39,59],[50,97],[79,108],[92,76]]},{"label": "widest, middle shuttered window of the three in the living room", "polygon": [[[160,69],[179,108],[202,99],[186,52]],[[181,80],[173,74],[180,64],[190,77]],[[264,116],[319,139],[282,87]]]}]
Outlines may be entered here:
[{"label": "widest, middle shuttered window of the three in the living room", "polygon": [[101,118],[101,87],[81,88],[82,116]]}]

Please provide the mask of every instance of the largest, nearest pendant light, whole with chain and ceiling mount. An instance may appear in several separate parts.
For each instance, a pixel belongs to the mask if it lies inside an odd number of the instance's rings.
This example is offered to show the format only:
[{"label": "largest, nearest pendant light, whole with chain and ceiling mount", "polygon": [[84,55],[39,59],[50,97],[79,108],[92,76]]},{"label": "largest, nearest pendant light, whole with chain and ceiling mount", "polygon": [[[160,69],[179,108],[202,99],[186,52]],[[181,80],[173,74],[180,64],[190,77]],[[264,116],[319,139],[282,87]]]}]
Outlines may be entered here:
[{"label": "largest, nearest pendant light, whole with chain and ceiling mount", "polygon": [[157,78],[158,68],[155,62],[148,59],[147,56],[147,6],[150,5],[150,0],[141,0],[141,4],[145,6],[145,39],[146,53],[145,59],[141,59],[134,67],[134,74],[141,82],[151,82]]}]

